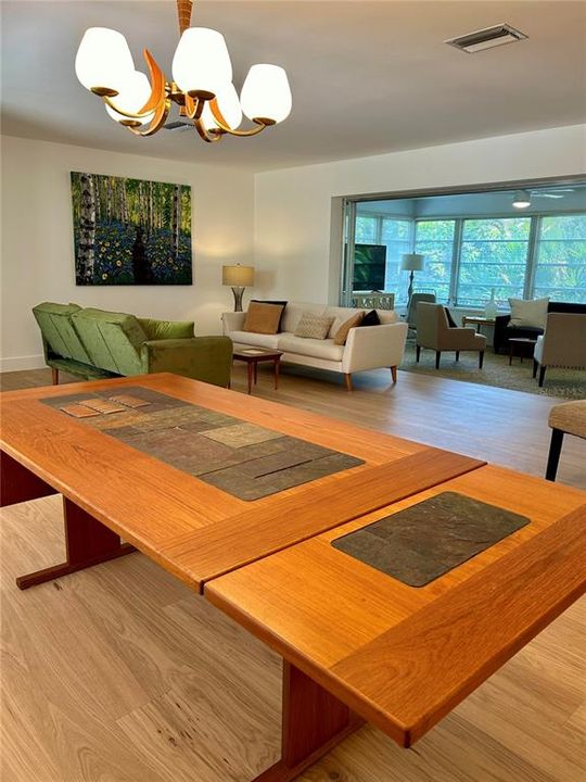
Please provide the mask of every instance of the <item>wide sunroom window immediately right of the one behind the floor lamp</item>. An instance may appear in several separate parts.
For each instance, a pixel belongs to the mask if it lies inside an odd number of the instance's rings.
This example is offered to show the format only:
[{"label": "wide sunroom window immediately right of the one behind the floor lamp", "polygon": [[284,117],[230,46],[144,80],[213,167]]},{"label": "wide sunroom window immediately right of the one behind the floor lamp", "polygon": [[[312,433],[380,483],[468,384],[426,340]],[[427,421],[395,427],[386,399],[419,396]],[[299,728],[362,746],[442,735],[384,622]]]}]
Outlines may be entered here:
[{"label": "wide sunroom window immediately right of the one behind the floor lamp", "polygon": [[497,302],[522,299],[531,217],[464,219],[456,303],[479,307],[495,292]]}]

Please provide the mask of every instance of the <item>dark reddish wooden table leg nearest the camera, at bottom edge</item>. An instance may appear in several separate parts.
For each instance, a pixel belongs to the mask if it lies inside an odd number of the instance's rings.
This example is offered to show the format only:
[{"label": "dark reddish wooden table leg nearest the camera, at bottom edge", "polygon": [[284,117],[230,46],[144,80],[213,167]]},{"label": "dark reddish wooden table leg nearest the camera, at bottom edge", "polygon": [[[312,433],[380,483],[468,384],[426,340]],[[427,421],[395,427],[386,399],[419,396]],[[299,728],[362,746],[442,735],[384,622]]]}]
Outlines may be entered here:
[{"label": "dark reddish wooden table leg nearest the camera, at bottom edge", "polygon": [[291,782],[362,723],[341,701],[283,661],[281,759],[253,782]]}]

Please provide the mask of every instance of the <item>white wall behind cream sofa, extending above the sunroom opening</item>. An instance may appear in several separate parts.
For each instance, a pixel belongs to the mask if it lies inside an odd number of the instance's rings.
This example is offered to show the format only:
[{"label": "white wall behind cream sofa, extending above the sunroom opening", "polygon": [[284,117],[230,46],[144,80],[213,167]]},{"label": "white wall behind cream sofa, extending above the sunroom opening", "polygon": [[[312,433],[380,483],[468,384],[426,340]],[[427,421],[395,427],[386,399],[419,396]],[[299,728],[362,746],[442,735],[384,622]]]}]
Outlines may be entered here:
[{"label": "white wall behind cream sofa, extending above the sunroom opening", "polygon": [[586,125],[257,174],[255,265],[270,281],[263,293],[333,300],[332,198],[584,173]]}]

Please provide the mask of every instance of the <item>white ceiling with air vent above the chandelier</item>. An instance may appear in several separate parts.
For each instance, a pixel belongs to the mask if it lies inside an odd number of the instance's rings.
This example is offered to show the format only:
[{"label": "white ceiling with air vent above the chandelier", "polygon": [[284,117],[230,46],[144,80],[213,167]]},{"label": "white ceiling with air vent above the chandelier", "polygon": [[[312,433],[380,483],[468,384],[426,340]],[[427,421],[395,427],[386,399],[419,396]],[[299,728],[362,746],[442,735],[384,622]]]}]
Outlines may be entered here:
[{"label": "white ceiling with air vent above the chandelier", "polygon": [[[87,27],[148,47],[169,74],[175,0],[2,2],[2,131],[192,163],[264,171],[586,121],[586,3],[200,0],[192,24],[224,33],[240,89],[250,65],[283,65],[293,112],[250,139],[194,130],[137,139],[74,74]],[[443,43],[509,23],[528,36],[466,54]],[[141,63],[139,65],[139,63]]]}]

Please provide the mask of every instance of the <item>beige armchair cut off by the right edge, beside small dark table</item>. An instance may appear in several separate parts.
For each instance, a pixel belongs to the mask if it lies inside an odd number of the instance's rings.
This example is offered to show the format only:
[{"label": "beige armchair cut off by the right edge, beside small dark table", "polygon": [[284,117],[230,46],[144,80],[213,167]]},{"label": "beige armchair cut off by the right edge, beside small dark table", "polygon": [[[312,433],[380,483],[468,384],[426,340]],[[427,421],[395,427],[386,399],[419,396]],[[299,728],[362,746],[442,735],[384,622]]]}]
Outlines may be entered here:
[{"label": "beige armchair cut off by the right edge, beside small dark table", "polygon": [[586,369],[586,313],[549,313],[533,354],[533,377],[544,384],[548,367]]}]

